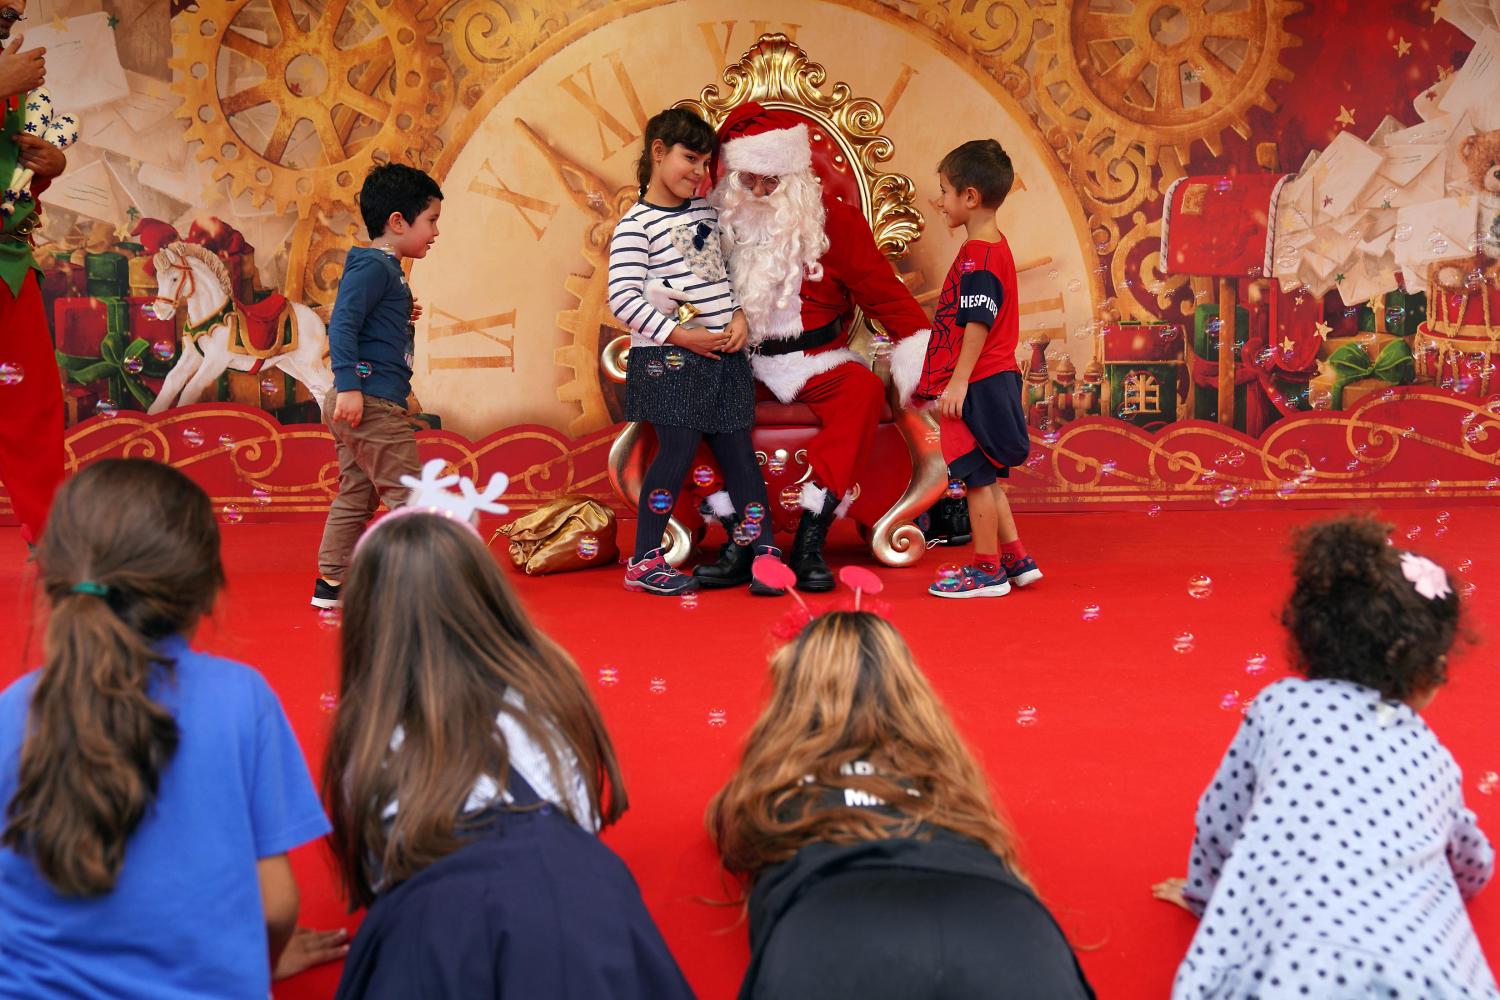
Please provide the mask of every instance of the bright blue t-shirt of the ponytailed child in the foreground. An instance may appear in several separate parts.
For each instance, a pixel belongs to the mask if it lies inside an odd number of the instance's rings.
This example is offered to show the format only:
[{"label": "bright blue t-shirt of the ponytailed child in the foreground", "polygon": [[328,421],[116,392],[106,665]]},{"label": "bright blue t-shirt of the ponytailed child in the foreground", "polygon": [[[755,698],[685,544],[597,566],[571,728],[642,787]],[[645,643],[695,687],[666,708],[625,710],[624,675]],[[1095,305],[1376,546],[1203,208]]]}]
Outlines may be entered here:
[{"label": "bright blue t-shirt of the ponytailed child in the foreground", "polygon": [[[177,753],[130,835],[112,892],[58,895],[0,849],[0,997],[266,1000],[270,960],[255,862],[328,831],[280,703],[250,667],[188,648],[152,697]],[[0,810],[15,795],[38,672],[0,694]]]}]

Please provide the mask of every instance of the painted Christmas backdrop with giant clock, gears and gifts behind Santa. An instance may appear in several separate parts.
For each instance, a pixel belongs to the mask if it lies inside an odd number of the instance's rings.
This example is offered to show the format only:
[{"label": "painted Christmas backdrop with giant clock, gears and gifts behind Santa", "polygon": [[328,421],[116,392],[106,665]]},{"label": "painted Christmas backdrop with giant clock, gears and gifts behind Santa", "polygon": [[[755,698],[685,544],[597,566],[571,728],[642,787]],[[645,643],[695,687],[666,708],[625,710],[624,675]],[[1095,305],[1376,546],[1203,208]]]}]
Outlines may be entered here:
[{"label": "painted Christmas backdrop with giant clock, gears and gifts behind Santa", "polygon": [[[1011,153],[999,222],[1022,265],[1023,504],[1480,495],[1500,487],[1500,340],[1488,327],[1464,340],[1464,316],[1436,315],[1437,267],[1410,253],[1430,234],[1390,243],[1402,196],[1431,174],[1348,181],[1370,210],[1359,249],[1328,267],[1352,216],[1296,217],[1290,198],[1278,214],[1272,181],[1296,175],[1284,190],[1300,198],[1296,184],[1340,177],[1348,144],[1389,163],[1394,129],[1456,121],[1464,94],[1494,84],[1476,69],[1500,54],[1494,7],[765,0],[747,16],[729,0],[32,0],[26,36],[48,46],[58,106],[82,118],[38,247],[70,459],[150,454],[196,465],[246,514],[320,510],[333,469],[316,402],[270,360],[291,345],[261,345],[198,400],[159,399],[188,342],[180,316],[146,307],[158,288],[141,234],[160,223],[206,246],[225,297],[285,295],[327,319],[364,238],[363,174],[400,160],[446,192],[442,235],[411,267],[426,307],[412,411],[440,429],[429,447],[507,468],[522,507],[608,496],[621,394],[602,352],[620,328],[602,265],[642,127],[780,33],[824,69],[824,93],[879,106],[879,169],[910,178],[926,217],[894,265],[928,309],[962,235],[930,207],[938,159],[980,136]],[[1462,129],[1500,129],[1466,114]],[[1448,142],[1438,198],[1467,196],[1458,138],[1450,121],[1434,139]],[[1382,232],[1386,256],[1370,249]],[[1464,256],[1464,234],[1449,235]],[[1226,270],[1228,243],[1251,267]],[[1248,316],[1226,339],[1230,300]],[[1416,355],[1410,387],[1332,387],[1335,349],[1374,357],[1389,339]]]}]

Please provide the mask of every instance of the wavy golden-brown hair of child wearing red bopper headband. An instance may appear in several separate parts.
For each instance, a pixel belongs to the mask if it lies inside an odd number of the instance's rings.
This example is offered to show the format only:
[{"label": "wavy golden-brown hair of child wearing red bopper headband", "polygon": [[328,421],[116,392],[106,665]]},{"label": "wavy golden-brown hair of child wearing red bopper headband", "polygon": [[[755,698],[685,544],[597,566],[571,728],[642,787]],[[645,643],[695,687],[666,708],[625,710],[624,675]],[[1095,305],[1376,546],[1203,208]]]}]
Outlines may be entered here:
[{"label": "wavy golden-brown hair of child wearing red bopper headband", "polygon": [[[771,658],[771,687],[740,768],[708,804],[726,870],[754,879],[813,841],[912,837],[927,825],[980,841],[1024,877],[984,774],[882,618],[818,616]],[[856,760],[876,774],[842,772]],[[822,807],[830,787],[879,796],[896,814]]]}]

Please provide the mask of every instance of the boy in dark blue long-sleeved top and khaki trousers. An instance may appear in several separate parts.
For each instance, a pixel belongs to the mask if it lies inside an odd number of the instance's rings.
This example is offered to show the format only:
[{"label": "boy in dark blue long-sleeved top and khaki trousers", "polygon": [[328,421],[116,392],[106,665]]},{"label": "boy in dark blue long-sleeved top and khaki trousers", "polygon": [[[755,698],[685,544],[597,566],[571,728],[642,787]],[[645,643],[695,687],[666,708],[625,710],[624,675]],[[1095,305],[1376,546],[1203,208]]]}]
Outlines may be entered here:
[{"label": "boy in dark blue long-sleeved top and khaki trousers", "polygon": [[406,420],[411,354],[422,307],[411,297],[404,258],[423,258],[438,238],[442,189],[414,166],[382,163],[360,187],[360,216],[370,234],[344,261],[328,324],[333,388],[322,418],[339,453],[339,495],[318,547],[314,607],[338,607],[354,543],[386,501],[406,502],[402,475],[420,472],[417,435]]}]

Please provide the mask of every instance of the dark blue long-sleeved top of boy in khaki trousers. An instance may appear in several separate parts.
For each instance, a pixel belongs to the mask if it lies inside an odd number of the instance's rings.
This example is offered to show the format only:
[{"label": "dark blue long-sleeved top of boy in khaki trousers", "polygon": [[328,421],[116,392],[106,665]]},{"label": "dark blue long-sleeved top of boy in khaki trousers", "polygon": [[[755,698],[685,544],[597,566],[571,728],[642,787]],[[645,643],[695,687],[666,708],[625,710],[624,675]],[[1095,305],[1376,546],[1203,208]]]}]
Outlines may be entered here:
[{"label": "dark blue long-sleeved top of boy in khaki trousers", "polygon": [[344,258],[344,277],[328,321],[333,387],[405,406],[414,342],[411,289],[400,262],[386,250],[352,247]]}]

